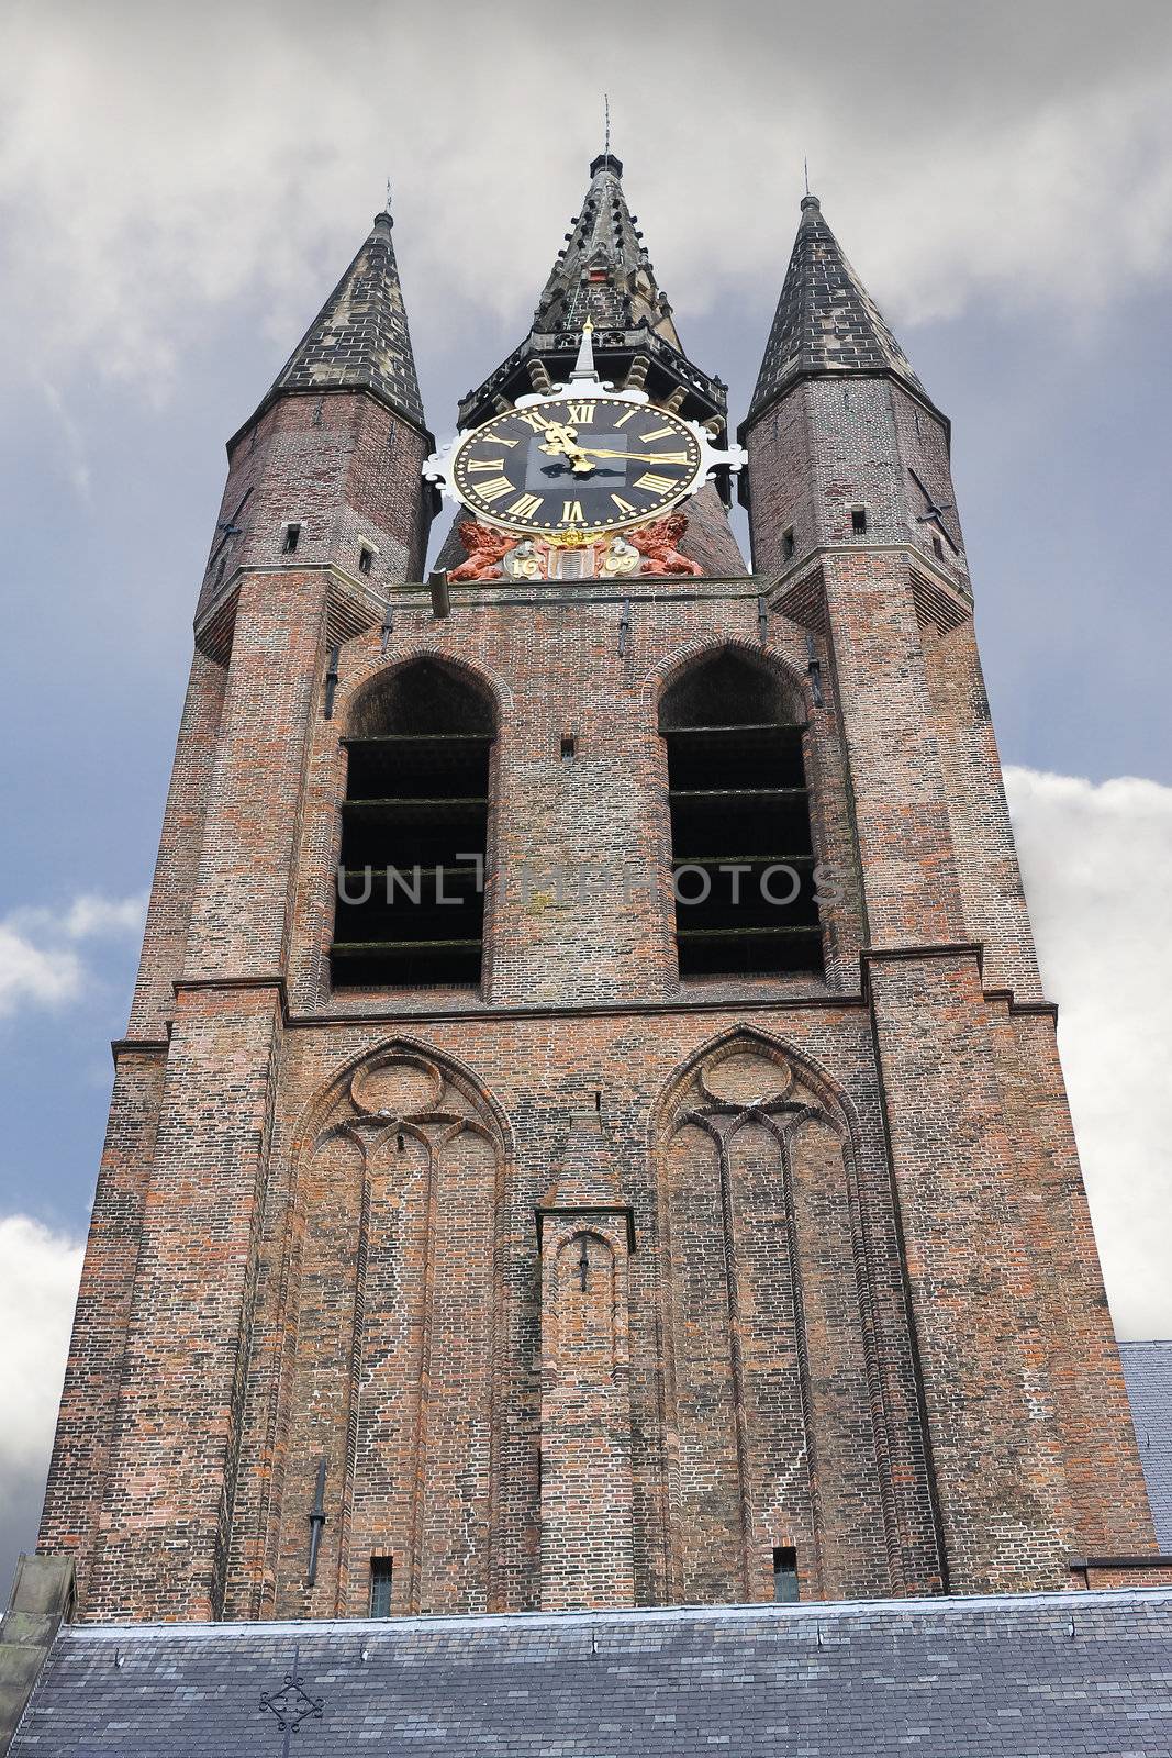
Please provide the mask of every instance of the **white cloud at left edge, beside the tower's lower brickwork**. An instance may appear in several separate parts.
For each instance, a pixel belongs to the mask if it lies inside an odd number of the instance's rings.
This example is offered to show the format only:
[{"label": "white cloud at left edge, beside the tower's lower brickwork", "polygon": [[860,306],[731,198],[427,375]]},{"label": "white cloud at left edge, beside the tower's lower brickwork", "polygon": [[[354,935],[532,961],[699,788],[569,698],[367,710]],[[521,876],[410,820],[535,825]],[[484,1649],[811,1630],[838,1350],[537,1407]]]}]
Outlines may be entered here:
[{"label": "white cloud at left edge, beside the tower's lower brickwork", "polygon": [[77,1239],[0,1217],[0,1505],[49,1457],[81,1257]]}]

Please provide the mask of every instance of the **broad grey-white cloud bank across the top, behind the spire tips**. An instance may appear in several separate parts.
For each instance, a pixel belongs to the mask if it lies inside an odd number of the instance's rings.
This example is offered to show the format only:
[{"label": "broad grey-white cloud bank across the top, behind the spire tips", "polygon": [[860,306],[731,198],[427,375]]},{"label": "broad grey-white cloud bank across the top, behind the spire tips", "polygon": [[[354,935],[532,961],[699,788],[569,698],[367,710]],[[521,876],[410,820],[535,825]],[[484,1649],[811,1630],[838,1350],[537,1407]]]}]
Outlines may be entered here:
[{"label": "broad grey-white cloud bank across the top, behind the spire tips", "polygon": [[[977,301],[1086,316],[1172,267],[1172,9],[597,0],[587,79],[536,0],[199,11],[9,0],[0,206],[25,348],[158,387],[216,306],[281,345],[390,171],[416,331],[518,331],[580,200],[610,88],[627,188],[692,308],[773,295],[803,153],[896,323]],[[648,86],[648,70],[654,79]],[[650,120],[654,118],[654,121]],[[49,290],[49,292],[47,292]],[[687,306],[684,306],[684,316]]]}]

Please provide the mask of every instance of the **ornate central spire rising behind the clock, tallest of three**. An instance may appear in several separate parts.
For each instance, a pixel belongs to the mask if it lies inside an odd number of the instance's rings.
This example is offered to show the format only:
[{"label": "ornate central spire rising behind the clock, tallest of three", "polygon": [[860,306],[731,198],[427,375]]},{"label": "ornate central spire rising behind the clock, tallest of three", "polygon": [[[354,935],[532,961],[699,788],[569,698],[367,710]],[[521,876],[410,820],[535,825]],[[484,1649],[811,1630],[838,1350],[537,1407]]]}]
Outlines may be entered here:
[{"label": "ornate central spire rising behind the clock, tallest of three", "polygon": [[582,213],[569,222],[529,334],[476,390],[460,403],[460,427],[474,427],[497,408],[573,371],[583,323],[594,325],[594,359],[601,378],[638,385],[654,403],[684,417],[726,429],[727,392],[719,378],[694,366],[684,348],[666,294],[655,280],[638,220],[622,190],[622,160],[599,153]]}]

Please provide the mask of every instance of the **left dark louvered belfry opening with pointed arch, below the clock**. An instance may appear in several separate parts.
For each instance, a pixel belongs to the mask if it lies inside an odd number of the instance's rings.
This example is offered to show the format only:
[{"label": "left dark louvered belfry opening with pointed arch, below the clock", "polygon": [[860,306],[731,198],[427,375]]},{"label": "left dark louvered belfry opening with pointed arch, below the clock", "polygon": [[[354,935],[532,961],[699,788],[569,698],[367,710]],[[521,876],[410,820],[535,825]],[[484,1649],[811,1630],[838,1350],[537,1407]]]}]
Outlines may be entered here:
[{"label": "left dark louvered belfry opening with pointed arch, below the clock", "polygon": [[330,967],[341,988],[480,983],[494,712],[418,659],[358,700]]}]

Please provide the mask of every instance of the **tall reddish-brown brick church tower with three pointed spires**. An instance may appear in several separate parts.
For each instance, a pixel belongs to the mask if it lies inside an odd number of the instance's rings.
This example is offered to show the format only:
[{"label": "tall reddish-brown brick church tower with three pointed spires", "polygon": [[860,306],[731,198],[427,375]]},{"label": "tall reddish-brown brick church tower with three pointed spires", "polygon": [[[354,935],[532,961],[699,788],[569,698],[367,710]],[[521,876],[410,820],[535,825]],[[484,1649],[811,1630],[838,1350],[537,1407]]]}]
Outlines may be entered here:
[{"label": "tall reddish-brown brick church tower with three pointed spires", "polygon": [[[722,441],[620,178],[464,427],[592,334]],[[429,592],[380,214],[230,441],[40,1536],[86,1619],[1153,1551],[949,424],[814,197],[742,434],[752,573],[717,475],[662,573]]]}]

